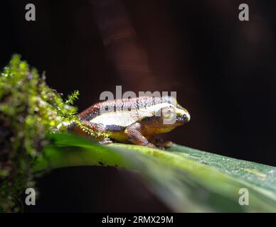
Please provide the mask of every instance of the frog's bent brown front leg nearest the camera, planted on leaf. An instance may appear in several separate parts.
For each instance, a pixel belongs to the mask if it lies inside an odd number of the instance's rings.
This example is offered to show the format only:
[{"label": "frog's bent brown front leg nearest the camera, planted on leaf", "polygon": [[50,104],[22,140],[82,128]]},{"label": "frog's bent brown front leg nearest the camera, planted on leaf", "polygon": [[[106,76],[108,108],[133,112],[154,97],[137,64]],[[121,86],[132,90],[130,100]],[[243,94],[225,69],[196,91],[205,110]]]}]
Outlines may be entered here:
[{"label": "frog's bent brown front leg nearest the camera, planted on leaf", "polygon": [[142,145],[149,148],[156,148],[153,143],[149,143],[149,140],[142,135],[142,124],[133,123],[124,130],[124,134],[127,135],[129,142],[135,145]]}]

